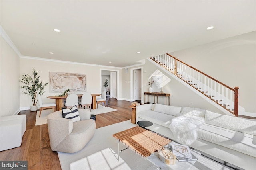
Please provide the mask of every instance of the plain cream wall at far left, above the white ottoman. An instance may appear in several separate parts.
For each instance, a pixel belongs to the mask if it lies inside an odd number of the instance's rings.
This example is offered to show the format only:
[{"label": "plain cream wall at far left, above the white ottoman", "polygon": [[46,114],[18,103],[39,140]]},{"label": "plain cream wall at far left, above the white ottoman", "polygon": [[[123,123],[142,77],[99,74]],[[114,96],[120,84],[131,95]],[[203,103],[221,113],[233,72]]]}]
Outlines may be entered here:
[{"label": "plain cream wall at far left, above the white ottoman", "polygon": [[0,36],[0,117],[16,115],[20,108],[19,56]]}]

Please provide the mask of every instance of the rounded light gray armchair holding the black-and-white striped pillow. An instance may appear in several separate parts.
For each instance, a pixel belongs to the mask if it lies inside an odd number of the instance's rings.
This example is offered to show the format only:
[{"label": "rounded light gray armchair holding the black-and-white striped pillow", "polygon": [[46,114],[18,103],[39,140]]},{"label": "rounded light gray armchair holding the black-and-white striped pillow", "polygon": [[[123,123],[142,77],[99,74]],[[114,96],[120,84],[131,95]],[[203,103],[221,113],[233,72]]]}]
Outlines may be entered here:
[{"label": "rounded light gray armchair holding the black-and-white striped pillow", "polygon": [[50,145],[53,151],[74,153],[83,149],[93,137],[96,125],[90,110],[78,109],[80,121],[62,117],[62,111],[47,115]]}]

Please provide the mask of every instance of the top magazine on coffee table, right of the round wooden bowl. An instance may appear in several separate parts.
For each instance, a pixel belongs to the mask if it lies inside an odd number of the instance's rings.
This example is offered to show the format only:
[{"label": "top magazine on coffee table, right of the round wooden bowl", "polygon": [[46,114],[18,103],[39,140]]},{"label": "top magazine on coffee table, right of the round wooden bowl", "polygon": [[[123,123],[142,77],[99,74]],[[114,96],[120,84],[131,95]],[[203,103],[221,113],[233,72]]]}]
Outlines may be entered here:
[{"label": "top magazine on coffee table, right of the round wooden bowl", "polygon": [[190,153],[190,149],[187,145],[181,145],[178,143],[172,144],[172,153],[177,157],[192,159],[192,154]]}]

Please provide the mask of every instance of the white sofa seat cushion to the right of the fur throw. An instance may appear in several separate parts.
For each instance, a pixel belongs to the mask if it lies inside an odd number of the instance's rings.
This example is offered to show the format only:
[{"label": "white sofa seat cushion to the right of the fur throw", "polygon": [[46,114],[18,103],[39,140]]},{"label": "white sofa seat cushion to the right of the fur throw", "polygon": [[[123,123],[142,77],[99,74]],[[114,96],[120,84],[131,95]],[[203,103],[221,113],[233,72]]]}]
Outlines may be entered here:
[{"label": "white sofa seat cushion to the right of the fur throw", "polygon": [[197,130],[197,137],[223,147],[256,157],[253,135],[204,123]]}]

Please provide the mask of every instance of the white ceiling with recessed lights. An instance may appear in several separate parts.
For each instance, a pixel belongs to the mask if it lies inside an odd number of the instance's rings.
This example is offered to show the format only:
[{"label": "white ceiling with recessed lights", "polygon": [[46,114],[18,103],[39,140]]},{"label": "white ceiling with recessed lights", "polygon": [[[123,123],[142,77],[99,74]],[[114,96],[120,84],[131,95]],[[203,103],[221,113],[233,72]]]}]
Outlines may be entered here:
[{"label": "white ceiling with recessed lights", "polygon": [[0,25],[23,56],[125,67],[255,31],[256,1],[1,0]]}]

